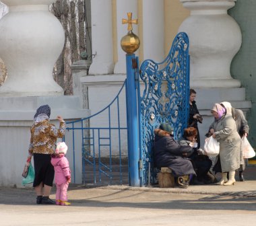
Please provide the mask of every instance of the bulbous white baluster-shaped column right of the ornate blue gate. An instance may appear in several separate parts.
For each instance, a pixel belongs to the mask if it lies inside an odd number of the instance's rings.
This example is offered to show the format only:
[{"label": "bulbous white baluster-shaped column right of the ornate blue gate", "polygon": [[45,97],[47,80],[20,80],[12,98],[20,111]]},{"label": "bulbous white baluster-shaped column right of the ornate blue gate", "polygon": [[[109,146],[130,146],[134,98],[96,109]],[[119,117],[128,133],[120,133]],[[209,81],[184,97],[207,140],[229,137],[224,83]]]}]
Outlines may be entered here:
[{"label": "bulbous white baluster-shaped column right of the ornate blue gate", "polygon": [[231,61],[241,47],[242,35],[227,9],[236,0],[180,0],[191,15],[179,32],[189,36],[191,55],[191,87],[240,87],[230,75]]}]

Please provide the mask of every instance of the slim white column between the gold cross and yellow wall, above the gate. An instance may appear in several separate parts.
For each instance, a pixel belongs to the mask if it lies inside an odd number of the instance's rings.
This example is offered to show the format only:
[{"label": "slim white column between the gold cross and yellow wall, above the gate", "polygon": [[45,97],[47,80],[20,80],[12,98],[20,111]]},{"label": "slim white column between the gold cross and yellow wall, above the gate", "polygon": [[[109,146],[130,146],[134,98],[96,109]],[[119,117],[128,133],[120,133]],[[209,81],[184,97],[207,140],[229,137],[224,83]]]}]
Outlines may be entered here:
[{"label": "slim white column between the gold cross and yellow wall, above the gate", "polygon": [[[154,12],[154,13],[153,13]],[[164,60],[164,1],[143,0],[143,59]],[[142,46],[141,46],[142,47]]]}]

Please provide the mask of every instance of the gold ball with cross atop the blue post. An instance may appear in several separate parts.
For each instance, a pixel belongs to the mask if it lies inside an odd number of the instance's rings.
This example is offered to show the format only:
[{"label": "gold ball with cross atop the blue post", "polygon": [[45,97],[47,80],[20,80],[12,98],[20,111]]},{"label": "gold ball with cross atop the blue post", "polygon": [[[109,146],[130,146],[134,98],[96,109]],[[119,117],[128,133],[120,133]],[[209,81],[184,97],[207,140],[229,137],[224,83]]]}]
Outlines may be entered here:
[{"label": "gold ball with cross atop the blue post", "polygon": [[137,20],[131,20],[132,13],[127,13],[128,20],[123,19],[122,24],[128,24],[128,34],[121,39],[121,47],[128,54],[134,53],[139,48],[139,37],[133,34],[132,24],[137,24]]}]

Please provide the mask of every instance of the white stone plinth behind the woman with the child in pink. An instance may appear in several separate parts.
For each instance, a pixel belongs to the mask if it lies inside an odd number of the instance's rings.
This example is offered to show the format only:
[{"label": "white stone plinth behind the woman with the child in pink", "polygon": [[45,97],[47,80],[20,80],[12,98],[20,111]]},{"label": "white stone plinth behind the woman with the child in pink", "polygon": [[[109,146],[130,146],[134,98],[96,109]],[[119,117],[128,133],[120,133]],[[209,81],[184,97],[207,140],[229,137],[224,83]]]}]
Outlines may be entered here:
[{"label": "white stone plinth behind the woman with the child in pink", "polygon": [[[0,186],[21,186],[22,170],[28,156],[30,143],[30,126],[38,106],[49,104],[51,107],[51,122],[59,127],[55,120],[57,115],[66,121],[83,118],[90,114],[89,110],[80,107],[79,98],[75,96],[30,97],[30,98],[0,98]],[[67,132],[69,147],[68,158],[73,172],[73,134]],[[75,182],[82,182],[82,137],[76,137],[75,151]],[[59,140],[61,141],[61,140]],[[74,178],[72,179],[74,182]]]}]

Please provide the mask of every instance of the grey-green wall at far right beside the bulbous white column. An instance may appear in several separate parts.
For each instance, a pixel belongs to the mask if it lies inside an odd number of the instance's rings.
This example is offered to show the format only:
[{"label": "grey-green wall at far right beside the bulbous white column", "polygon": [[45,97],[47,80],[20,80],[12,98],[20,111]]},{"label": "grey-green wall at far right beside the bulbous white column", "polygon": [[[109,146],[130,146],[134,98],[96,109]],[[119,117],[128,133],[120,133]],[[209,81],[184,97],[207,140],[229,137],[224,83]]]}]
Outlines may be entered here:
[{"label": "grey-green wall at far right beside the bulbous white column", "polygon": [[246,99],[251,101],[252,108],[247,113],[249,122],[249,141],[256,147],[256,1],[238,0],[228,13],[234,17],[242,31],[242,46],[231,64],[231,75],[239,79],[246,88]]}]

